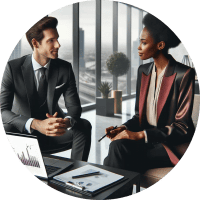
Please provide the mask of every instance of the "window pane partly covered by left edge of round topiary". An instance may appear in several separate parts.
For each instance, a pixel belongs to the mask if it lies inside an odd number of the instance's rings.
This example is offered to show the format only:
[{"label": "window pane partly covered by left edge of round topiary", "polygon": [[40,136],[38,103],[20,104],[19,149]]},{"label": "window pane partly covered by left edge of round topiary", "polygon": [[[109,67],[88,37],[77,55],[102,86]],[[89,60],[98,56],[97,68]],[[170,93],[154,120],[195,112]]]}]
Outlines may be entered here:
[{"label": "window pane partly covered by left edge of round topiary", "polygon": [[112,83],[113,76],[107,70],[106,60],[113,53],[112,47],[112,1],[102,1],[101,20],[101,81]]}]

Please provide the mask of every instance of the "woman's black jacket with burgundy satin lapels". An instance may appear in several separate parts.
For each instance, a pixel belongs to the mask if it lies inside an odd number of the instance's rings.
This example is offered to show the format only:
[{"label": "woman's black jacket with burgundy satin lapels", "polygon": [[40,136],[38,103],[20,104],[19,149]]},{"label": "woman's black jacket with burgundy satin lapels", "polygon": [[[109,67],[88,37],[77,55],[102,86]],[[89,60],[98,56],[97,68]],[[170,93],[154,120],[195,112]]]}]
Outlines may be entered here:
[{"label": "woman's black jacket with burgundy satin lapels", "polygon": [[165,143],[168,146],[192,139],[195,128],[192,122],[194,99],[194,69],[176,62],[169,55],[157,103],[157,127],[146,119],[147,94],[153,63],[138,69],[135,115],[124,125],[131,131],[146,130],[148,143]]}]

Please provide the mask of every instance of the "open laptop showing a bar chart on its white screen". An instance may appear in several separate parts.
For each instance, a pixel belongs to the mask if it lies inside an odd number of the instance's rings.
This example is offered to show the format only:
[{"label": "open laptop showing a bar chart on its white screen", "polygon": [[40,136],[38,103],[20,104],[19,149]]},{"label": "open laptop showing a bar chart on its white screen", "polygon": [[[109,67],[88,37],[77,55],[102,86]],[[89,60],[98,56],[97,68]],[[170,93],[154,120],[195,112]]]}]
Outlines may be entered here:
[{"label": "open laptop showing a bar chart on its white screen", "polygon": [[42,157],[34,135],[6,132],[6,137],[18,160],[38,178],[50,179],[73,164],[70,161]]}]

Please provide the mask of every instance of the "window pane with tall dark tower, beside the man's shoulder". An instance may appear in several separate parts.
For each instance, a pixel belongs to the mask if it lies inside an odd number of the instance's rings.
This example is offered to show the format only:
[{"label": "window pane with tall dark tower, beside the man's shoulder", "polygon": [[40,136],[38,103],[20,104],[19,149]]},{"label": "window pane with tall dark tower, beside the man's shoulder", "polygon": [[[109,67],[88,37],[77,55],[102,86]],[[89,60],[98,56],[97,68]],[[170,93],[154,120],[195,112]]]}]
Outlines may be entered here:
[{"label": "window pane with tall dark tower, beside the man's shoulder", "polygon": [[95,1],[79,3],[79,97],[95,103]]}]

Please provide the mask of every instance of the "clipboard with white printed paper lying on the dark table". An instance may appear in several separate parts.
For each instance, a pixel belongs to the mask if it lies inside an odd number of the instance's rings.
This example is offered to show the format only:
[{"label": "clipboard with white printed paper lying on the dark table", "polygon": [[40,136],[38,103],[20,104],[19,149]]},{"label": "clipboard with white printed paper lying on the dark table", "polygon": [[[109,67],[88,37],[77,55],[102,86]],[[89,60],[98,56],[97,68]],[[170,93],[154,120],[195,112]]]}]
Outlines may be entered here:
[{"label": "clipboard with white printed paper lying on the dark table", "polygon": [[[99,173],[87,177],[73,178],[74,176],[88,174],[93,171],[98,171]],[[92,197],[125,180],[126,178],[122,175],[87,164],[77,169],[54,176],[51,182]]]}]

